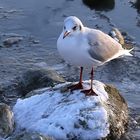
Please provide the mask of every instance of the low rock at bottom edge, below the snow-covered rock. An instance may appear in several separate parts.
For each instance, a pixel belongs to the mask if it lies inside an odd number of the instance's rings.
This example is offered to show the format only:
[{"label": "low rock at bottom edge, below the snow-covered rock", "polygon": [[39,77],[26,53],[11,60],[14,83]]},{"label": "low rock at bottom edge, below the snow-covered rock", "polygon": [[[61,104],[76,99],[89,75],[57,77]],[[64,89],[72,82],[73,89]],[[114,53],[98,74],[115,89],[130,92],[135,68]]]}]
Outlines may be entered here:
[{"label": "low rock at bottom edge, below the snow-covered rock", "polygon": [[53,138],[43,136],[39,133],[20,132],[6,140],[54,140]]}]

